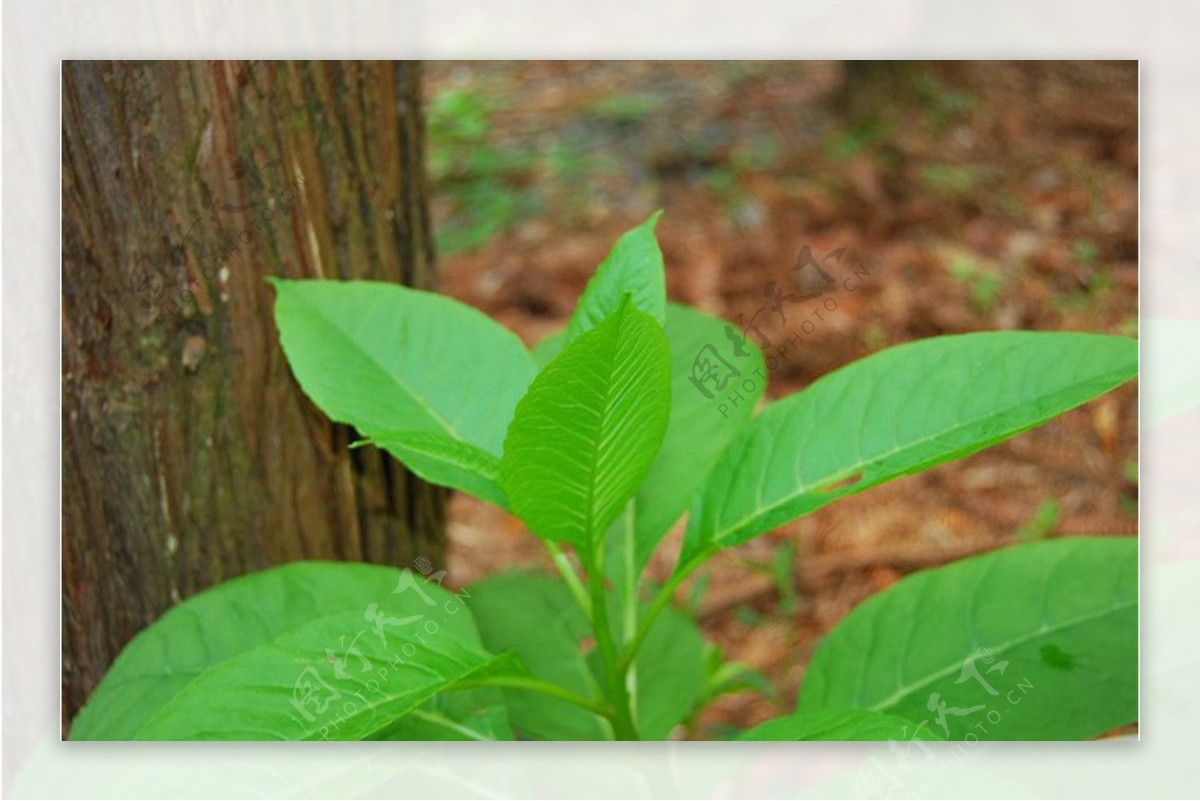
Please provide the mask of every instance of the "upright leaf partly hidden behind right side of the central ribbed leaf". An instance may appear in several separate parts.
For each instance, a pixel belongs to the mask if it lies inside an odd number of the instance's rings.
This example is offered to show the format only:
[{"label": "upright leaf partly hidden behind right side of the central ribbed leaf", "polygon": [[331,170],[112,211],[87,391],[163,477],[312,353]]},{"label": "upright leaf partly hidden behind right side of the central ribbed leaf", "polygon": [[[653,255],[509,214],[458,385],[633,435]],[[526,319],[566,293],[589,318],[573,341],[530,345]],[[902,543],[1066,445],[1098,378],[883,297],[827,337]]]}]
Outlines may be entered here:
[{"label": "upright leaf partly hidden behind right side of the central ribbed leaf", "polygon": [[[721,451],[745,428],[766,389],[762,354],[752,342],[745,342],[739,356],[725,336],[727,325],[685,306],[667,307],[671,417],[662,447],[634,501],[638,574],[654,548],[691,505]],[[692,383],[694,365],[698,359],[710,359],[709,354],[727,366],[731,390],[736,387],[743,397],[737,404],[728,403],[726,397],[710,398]],[[744,381],[751,381],[751,389],[745,389]]]}]

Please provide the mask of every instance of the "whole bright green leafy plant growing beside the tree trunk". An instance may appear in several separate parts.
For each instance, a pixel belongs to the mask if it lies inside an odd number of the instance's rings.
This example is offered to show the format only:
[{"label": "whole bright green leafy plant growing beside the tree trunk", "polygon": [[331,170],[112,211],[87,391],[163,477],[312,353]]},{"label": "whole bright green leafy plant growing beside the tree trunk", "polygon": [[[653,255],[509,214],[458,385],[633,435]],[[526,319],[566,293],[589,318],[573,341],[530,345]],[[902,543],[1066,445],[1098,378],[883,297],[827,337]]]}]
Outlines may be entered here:
[{"label": "whole bright green leafy plant growing beside the tree trunk", "polygon": [[[672,736],[761,683],[674,604],[712,556],[1136,373],[1132,339],[985,332],[888,348],[766,404],[758,381],[722,410],[691,378],[726,324],[667,303],[655,222],[617,242],[533,351],[436,294],[276,281],[308,397],[424,478],[518,516],[557,576],[452,594],[443,573],[319,562],[229,582],[139,634],[72,739]],[[732,366],[761,371],[743,347]],[[646,565],[685,512],[654,586]],[[1136,542],[1030,538],[860,604],[821,643],[794,713],[740,737],[1075,740],[1136,721]],[[794,559],[776,560],[779,582]]]}]

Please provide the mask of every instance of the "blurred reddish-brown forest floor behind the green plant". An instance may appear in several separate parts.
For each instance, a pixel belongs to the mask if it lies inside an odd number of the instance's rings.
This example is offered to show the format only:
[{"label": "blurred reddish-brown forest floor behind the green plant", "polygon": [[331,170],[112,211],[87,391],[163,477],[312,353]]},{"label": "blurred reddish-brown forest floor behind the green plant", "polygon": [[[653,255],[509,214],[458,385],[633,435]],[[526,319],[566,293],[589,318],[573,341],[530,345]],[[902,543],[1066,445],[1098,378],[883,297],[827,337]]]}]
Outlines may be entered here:
[{"label": "blurred reddish-brown forest floor behind the green plant", "polygon": [[[442,289],[528,344],[659,207],[671,299],[730,320],[768,282],[791,289],[805,245],[870,265],[770,398],[924,337],[1138,331],[1134,64],[432,62],[426,100]],[[814,308],[757,321],[781,339]],[[776,694],[725,697],[691,736],[791,711],[821,634],[913,570],[1019,538],[1135,534],[1136,458],[1130,385],[724,554],[691,602]],[[520,522],[461,495],[450,510],[452,583],[546,564]]]}]

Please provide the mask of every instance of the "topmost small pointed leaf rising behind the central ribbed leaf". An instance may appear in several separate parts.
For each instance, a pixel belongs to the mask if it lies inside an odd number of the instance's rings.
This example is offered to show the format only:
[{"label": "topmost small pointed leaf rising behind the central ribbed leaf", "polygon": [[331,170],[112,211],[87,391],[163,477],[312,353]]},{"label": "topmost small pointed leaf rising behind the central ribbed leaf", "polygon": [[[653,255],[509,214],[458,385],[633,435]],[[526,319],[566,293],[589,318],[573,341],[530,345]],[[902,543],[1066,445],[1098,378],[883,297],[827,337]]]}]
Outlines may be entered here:
[{"label": "topmost small pointed leaf rising behind the central ribbed leaf", "polygon": [[654,237],[654,227],[661,215],[655,211],[644,223],[623,234],[596,267],[566,324],[568,342],[600,325],[626,295],[632,297],[636,308],[662,323],[667,303],[666,272],[662,251]]}]

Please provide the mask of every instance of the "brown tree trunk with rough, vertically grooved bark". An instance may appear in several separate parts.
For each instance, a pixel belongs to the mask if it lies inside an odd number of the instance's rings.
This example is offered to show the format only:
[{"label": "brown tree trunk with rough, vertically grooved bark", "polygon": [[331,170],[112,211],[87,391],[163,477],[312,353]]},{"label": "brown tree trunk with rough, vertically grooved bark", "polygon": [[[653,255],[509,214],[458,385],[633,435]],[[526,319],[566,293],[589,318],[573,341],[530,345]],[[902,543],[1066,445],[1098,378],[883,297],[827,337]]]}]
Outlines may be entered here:
[{"label": "brown tree trunk with rough, vertically grooved bark", "polygon": [[439,560],[440,492],[304,397],[265,281],[432,275],[416,65],[64,65],[65,721],[217,582]]}]

